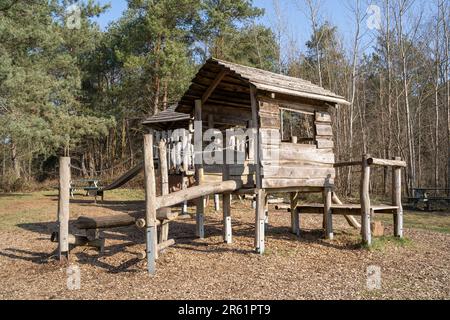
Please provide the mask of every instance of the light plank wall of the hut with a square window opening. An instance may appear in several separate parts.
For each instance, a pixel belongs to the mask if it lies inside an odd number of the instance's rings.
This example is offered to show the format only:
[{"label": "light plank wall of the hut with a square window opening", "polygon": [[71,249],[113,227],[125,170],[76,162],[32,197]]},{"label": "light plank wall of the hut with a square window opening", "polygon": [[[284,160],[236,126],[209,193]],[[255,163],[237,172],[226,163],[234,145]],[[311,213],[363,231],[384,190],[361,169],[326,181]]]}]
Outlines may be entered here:
[{"label": "light plank wall of the hut with a square window opening", "polygon": [[[302,110],[301,105],[294,107]],[[311,107],[304,111],[310,112]],[[263,188],[333,184],[336,172],[330,114],[315,107],[315,145],[282,143],[279,108],[278,103],[260,102]]]}]

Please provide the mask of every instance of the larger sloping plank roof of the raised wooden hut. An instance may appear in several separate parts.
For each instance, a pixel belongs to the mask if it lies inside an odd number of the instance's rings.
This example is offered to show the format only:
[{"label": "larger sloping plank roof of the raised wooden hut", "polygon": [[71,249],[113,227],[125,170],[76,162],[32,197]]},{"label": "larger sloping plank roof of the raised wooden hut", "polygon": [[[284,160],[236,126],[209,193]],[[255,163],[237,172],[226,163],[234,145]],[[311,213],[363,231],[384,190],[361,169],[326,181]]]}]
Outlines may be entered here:
[{"label": "larger sloping plank roof of the raised wooden hut", "polygon": [[250,84],[268,93],[318,100],[333,105],[349,104],[344,97],[310,81],[212,58],[203,65],[192,80],[176,111],[191,112],[196,99],[210,100],[219,104],[226,102],[227,105],[248,106],[250,105]]}]

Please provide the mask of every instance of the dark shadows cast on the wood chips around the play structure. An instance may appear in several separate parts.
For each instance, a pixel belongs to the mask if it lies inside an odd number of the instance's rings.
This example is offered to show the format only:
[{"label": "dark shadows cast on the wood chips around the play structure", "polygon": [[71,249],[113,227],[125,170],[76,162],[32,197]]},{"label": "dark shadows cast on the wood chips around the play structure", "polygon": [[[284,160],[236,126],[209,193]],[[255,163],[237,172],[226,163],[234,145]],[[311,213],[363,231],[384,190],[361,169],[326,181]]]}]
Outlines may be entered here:
[{"label": "dark shadows cast on the wood chips around the play structure", "polygon": [[[50,196],[55,198],[57,197]],[[144,216],[145,202],[143,201],[103,201],[98,204],[93,204],[92,200],[73,199],[71,203],[77,204],[82,207],[90,207],[93,211],[95,208],[105,208],[117,214],[128,214],[134,218],[141,218]],[[87,212],[89,212],[87,210]],[[87,214],[89,215],[89,214]],[[96,216],[99,216],[97,213]],[[173,238],[176,241],[174,248],[184,251],[195,251],[202,253],[224,253],[234,252],[242,255],[253,254],[252,249],[242,249],[234,246],[224,246],[221,240],[214,243],[206,243],[195,237],[195,224],[194,219],[190,222],[187,221],[174,221],[170,224],[169,238]],[[23,230],[30,231],[38,234],[40,237],[38,241],[50,241],[51,233],[57,228],[56,222],[42,222],[42,223],[22,223],[19,224]],[[82,231],[77,230],[74,226],[74,221],[70,222],[70,230],[73,234],[82,234]],[[252,223],[242,223],[234,221],[233,223],[233,235],[240,238],[254,238],[254,225]],[[75,248],[72,254],[77,257],[77,262],[80,264],[89,264],[99,267],[109,273],[118,272],[141,272],[142,268],[138,268],[137,265],[141,260],[137,258],[136,245],[145,246],[145,234],[142,230],[137,229],[135,226],[115,228],[110,230],[104,230],[101,233],[107,242],[105,250],[102,253],[97,252],[91,248]],[[217,237],[221,239],[222,235],[222,221],[219,219],[209,218],[207,225],[205,226],[205,237],[213,238]],[[352,243],[330,243],[323,240],[323,231],[321,230],[302,230],[301,237],[290,233],[289,227],[274,227],[268,225],[266,230],[266,236],[278,240],[286,241],[299,241],[301,243],[318,243],[327,247],[332,247],[339,250],[357,250],[360,249],[359,244]],[[108,243],[109,242],[109,243]],[[55,244],[55,247],[57,244]],[[113,257],[119,253],[127,253],[128,257],[135,256],[135,258],[127,259],[120,263],[120,265],[113,265],[108,263],[108,258]],[[21,259],[32,262],[34,264],[46,264],[52,257],[56,256],[56,252],[34,252],[32,250],[25,250],[24,248],[6,248],[0,251],[1,256],[8,257],[10,259]]]}]

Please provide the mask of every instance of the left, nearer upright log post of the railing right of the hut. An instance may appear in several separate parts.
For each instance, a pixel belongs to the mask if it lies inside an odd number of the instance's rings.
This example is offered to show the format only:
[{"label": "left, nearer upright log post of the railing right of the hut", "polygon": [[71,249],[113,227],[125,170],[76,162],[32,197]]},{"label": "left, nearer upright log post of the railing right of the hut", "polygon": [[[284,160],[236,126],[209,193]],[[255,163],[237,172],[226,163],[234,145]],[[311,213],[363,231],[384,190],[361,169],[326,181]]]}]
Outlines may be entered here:
[{"label": "left, nearer upright log post of the railing right of the hut", "polygon": [[364,155],[361,166],[361,235],[363,243],[372,244],[372,235],[370,230],[370,165],[368,163],[369,155]]}]

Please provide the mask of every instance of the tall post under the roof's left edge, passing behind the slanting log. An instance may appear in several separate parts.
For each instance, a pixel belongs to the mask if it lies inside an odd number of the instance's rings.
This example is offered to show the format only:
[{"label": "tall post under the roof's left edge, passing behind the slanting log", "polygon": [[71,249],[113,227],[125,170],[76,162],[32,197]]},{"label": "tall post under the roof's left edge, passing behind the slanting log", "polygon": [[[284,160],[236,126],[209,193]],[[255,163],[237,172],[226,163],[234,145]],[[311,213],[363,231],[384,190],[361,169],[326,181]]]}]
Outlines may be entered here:
[{"label": "tall post under the roof's left edge, passing behind the slanting log", "polygon": [[[195,100],[195,168],[197,185],[204,182],[203,169],[203,125],[202,125],[202,100]],[[200,124],[200,125],[199,125]],[[197,200],[196,236],[200,239],[205,238],[205,197]]]}]

